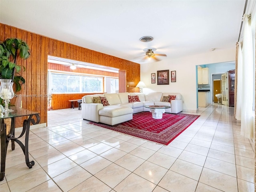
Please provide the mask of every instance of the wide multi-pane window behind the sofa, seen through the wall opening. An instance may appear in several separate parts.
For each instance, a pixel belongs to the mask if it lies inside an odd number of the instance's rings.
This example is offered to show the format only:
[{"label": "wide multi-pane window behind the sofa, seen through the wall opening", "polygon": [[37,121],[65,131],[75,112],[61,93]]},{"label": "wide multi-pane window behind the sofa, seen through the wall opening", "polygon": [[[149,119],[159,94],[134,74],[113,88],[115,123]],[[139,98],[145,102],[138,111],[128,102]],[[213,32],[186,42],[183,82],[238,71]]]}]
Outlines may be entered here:
[{"label": "wide multi-pane window behind the sofa, seen through the wall opening", "polygon": [[73,74],[50,73],[52,93],[103,92],[103,78]]}]

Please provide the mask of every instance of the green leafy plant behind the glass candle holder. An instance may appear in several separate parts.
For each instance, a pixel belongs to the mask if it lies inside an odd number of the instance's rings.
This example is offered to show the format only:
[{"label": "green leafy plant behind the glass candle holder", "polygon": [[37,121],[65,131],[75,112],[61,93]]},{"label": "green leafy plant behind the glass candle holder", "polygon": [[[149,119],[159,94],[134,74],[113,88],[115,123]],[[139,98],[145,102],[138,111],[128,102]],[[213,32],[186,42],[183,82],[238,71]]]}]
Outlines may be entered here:
[{"label": "green leafy plant behind the glass candle holder", "polygon": [[29,58],[30,49],[26,42],[18,38],[8,38],[0,42],[0,79],[11,79],[16,85],[16,92],[20,91],[25,83],[19,72],[21,69],[26,70],[24,66],[16,64],[18,56],[24,60]]}]

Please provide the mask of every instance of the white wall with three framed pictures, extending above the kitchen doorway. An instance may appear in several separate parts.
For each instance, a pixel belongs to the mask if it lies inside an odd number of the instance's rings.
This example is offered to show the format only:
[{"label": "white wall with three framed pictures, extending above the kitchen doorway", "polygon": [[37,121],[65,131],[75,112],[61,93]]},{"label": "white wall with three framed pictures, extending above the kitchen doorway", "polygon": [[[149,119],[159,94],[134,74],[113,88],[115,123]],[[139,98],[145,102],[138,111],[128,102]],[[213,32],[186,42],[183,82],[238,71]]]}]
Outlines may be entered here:
[{"label": "white wall with three framed pictures, extending above the kitchen doorway", "polygon": [[[183,111],[196,112],[196,65],[230,62],[235,60],[235,56],[236,45],[234,43],[232,49],[218,50],[216,48],[214,51],[183,58],[168,58],[167,54],[167,58],[162,61],[141,64],[140,80],[147,86],[143,88],[143,92],[179,92],[184,101]],[[151,84],[151,73],[157,73],[158,70],[176,71],[176,82],[169,82],[169,85]]]}]

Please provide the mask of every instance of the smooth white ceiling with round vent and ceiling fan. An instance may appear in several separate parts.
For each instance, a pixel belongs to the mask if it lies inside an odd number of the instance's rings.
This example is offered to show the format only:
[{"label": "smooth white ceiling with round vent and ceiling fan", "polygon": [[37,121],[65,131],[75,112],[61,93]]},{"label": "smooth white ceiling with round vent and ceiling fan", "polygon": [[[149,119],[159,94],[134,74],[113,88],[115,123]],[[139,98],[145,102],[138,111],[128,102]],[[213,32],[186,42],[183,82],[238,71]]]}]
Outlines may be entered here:
[{"label": "smooth white ceiling with round vent and ceiling fan", "polygon": [[[1,0],[0,22],[137,63],[234,48],[245,0]],[[141,42],[152,36],[151,42]],[[162,60],[165,57],[158,57]]]}]

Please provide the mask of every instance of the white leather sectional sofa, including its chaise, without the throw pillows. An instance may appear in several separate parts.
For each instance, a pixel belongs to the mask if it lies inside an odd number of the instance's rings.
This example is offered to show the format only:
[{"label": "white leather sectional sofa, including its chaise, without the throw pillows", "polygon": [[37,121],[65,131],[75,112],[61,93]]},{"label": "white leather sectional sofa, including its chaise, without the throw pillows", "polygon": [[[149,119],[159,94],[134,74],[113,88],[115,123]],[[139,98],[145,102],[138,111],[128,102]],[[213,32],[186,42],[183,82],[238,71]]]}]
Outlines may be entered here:
[{"label": "white leather sectional sofa, including its chaise, without the throw pillows", "polygon": [[[170,102],[162,101],[166,96],[176,96]],[[139,102],[129,102],[128,96],[138,96]],[[97,97],[105,97],[108,101],[107,106],[102,103],[94,103]],[[149,111],[147,105],[166,105],[170,108],[165,109],[166,113],[177,114],[182,111],[183,101],[180,93],[105,93],[86,95],[82,97],[82,118],[93,122],[101,122],[108,125],[115,125],[121,122],[132,120],[132,114]]]}]

